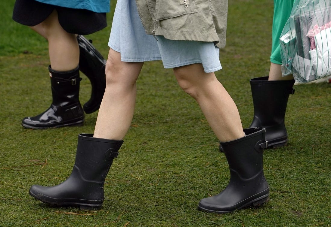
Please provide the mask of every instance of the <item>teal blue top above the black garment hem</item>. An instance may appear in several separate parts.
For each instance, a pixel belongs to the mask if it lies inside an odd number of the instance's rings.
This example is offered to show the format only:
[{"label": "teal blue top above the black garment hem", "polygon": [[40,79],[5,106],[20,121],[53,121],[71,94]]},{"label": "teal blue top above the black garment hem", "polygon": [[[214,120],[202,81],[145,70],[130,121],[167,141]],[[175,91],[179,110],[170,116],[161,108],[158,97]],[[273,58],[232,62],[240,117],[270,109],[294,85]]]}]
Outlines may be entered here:
[{"label": "teal blue top above the black garment hem", "polygon": [[84,9],[96,13],[108,13],[110,11],[110,0],[36,0],[38,2],[62,6],[71,9]]}]

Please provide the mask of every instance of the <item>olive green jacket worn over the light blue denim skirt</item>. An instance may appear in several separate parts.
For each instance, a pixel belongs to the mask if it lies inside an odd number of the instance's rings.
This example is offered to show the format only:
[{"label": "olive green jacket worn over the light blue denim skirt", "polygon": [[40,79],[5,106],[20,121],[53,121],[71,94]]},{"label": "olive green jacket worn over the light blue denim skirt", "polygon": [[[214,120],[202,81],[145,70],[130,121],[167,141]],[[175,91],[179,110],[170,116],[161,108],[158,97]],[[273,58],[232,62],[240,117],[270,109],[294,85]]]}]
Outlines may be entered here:
[{"label": "olive green jacket worn over the light blue denim skirt", "polygon": [[227,0],[135,0],[147,34],[225,46]]}]

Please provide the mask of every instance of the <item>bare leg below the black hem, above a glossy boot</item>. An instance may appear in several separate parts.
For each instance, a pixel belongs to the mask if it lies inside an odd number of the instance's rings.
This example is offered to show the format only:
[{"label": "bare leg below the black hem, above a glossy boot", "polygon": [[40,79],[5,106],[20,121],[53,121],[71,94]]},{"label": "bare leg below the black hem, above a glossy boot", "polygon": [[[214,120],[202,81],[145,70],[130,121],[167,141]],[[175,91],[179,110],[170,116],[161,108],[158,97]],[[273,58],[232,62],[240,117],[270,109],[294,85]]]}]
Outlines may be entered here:
[{"label": "bare leg below the black hem, above a glossy boot", "polygon": [[66,32],[54,10],[47,19],[31,27],[48,40],[48,52],[53,70],[69,71],[79,63],[79,47],[75,34]]}]

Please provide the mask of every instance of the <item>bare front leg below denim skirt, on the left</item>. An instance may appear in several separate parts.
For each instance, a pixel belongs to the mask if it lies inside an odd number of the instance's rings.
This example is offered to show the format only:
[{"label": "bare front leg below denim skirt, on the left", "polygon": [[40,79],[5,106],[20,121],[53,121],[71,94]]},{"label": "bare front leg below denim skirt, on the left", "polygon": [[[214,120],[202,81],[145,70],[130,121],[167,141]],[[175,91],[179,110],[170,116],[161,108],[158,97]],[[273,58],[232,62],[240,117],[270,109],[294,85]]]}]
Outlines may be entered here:
[{"label": "bare front leg below denim skirt, on the left", "polygon": [[110,49],[106,64],[106,91],[94,137],[121,140],[128,131],[136,102],[136,80],[144,62],[123,62]]}]

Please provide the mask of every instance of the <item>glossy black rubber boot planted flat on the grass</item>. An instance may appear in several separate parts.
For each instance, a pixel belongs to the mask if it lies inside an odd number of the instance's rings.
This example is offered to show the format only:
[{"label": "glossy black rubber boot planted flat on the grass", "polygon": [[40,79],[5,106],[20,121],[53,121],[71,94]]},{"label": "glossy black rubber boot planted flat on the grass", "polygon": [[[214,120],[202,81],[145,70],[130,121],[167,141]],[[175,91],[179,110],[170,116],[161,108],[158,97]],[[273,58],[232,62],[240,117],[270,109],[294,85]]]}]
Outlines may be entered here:
[{"label": "glossy black rubber boot planted flat on the grass", "polygon": [[58,128],[84,122],[84,112],[79,102],[78,67],[66,72],[55,71],[49,66],[52,104],[35,117],[26,117],[22,126],[30,129]]}]

